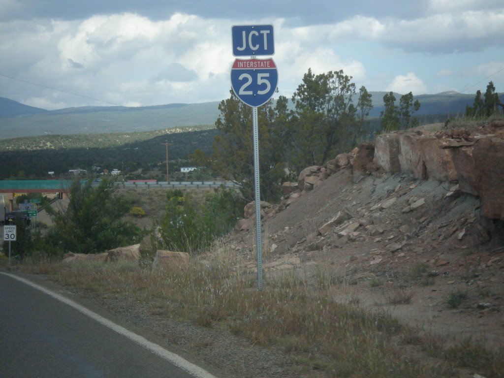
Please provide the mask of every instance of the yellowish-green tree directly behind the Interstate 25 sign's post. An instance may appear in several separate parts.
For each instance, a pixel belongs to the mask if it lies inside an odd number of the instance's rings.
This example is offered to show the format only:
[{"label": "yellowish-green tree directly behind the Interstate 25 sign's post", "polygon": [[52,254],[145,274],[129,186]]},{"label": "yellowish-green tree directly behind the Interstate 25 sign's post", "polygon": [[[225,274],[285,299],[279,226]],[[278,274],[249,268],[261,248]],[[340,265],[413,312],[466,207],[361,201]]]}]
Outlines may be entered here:
[{"label": "yellowish-green tree directly behind the Interstate 25 sign's post", "polygon": [[[219,135],[214,138],[212,169],[225,179],[241,185],[243,196],[254,199],[254,148],[252,110],[233,91],[221,101],[219,118],[215,122]],[[285,173],[289,134],[287,99],[283,96],[273,107],[270,100],[258,107],[259,163],[261,197],[276,200]]]}]

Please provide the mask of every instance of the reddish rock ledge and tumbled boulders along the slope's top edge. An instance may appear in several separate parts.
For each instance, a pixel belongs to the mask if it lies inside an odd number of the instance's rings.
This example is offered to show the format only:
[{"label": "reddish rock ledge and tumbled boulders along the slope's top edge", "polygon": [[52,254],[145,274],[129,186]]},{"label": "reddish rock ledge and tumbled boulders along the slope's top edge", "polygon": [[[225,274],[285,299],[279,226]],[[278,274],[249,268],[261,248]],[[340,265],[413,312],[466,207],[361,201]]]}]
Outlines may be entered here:
[{"label": "reddish rock ledge and tumbled boulders along the slope's top edge", "polygon": [[[416,179],[457,181],[457,193],[481,199],[482,215],[504,220],[504,121],[493,121],[472,129],[439,131],[442,123],[376,136],[351,153],[342,153],[324,165],[303,169],[297,182],[284,182],[280,205],[261,202],[261,218],[272,217],[301,196],[316,190],[331,175],[344,169],[367,174],[375,171],[404,173]],[[387,204],[383,204],[387,206]],[[419,204],[409,204],[404,212]],[[254,202],[245,206],[245,219],[235,230],[253,227]],[[331,229],[331,221],[321,227]]]}]

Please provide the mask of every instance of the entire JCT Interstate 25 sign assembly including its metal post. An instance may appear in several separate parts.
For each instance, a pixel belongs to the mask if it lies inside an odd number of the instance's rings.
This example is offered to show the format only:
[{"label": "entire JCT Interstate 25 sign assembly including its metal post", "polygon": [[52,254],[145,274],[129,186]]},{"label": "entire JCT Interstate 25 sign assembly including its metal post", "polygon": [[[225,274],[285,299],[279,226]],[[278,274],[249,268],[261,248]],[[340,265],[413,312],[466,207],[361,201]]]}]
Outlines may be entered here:
[{"label": "entire JCT Interstate 25 sign assembly including its metal post", "polygon": [[261,187],[259,177],[258,106],[269,101],[278,85],[278,71],[273,59],[256,59],[258,55],[273,55],[275,45],[273,25],[242,25],[232,27],[233,55],[251,56],[235,59],[231,69],[231,87],[236,96],[252,107],[254,139],[254,196],[256,202],[256,249],[258,290],[263,290],[263,252],[261,241]]}]

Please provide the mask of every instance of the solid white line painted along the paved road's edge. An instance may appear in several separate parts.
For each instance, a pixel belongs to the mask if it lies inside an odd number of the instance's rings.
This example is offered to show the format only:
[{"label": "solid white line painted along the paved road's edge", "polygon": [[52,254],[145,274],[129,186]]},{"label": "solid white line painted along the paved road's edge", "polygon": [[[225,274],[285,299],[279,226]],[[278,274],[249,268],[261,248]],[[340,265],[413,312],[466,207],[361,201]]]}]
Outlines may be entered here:
[{"label": "solid white line painted along the paved road's edge", "polygon": [[37,290],[44,292],[47,295],[50,295],[51,297],[65,303],[65,304],[68,304],[71,307],[74,307],[76,310],[82,312],[83,314],[85,314],[89,318],[97,321],[98,323],[101,323],[102,325],[111,329],[112,331],[117,332],[119,335],[122,335],[122,336],[129,338],[130,340],[134,341],[135,343],[150,350],[152,353],[159,355],[160,357],[170,361],[172,364],[187,371],[188,373],[192,374],[196,378],[217,378],[215,375],[212,375],[208,371],[202,369],[201,367],[187,361],[186,359],[180,357],[178,354],[172,353],[172,352],[164,349],[160,345],[157,345],[153,342],[150,342],[149,340],[143,338],[142,336],[137,335],[136,333],[133,333],[133,332],[125,329],[124,327],[121,327],[121,326],[109,321],[108,319],[103,318],[102,316],[98,315],[97,313],[95,313],[93,311],[88,310],[86,307],[81,306],[80,304],[74,302],[73,300],[65,298],[62,295],[56,294],[56,293],[46,289],[45,287],[37,285],[31,281],[28,281],[22,277],[18,277],[14,274],[9,274],[9,273],[4,273],[4,272],[0,272],[0,273],[4,274],[6,276],[9,276],[11,278],[14,278],[18,281],[21,281],[21,282],[37,289]]}]

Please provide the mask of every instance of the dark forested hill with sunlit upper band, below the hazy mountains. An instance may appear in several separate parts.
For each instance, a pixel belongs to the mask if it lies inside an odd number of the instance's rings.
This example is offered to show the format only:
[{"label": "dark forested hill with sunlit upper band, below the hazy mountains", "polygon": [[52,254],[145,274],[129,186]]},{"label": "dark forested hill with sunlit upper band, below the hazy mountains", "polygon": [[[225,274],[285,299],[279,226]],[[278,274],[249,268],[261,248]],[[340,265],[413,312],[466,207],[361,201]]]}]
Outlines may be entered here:
[{"label": "dark forested hill with sunlit upper band, below the hazy mountains", "polygon": [[[0,179],[47,178],[69,169],[99,167],[144,172],[166,172],[166,146],[169,145],[170,171],[179,170],[177,160],[199,149],[209,154],[217,129],[174,128],[169,131],[89,135],[47,135],[0,140]],[[146,177],[141,177],[146,178]],[[152,178],[152,177],[150,177]]]}]

